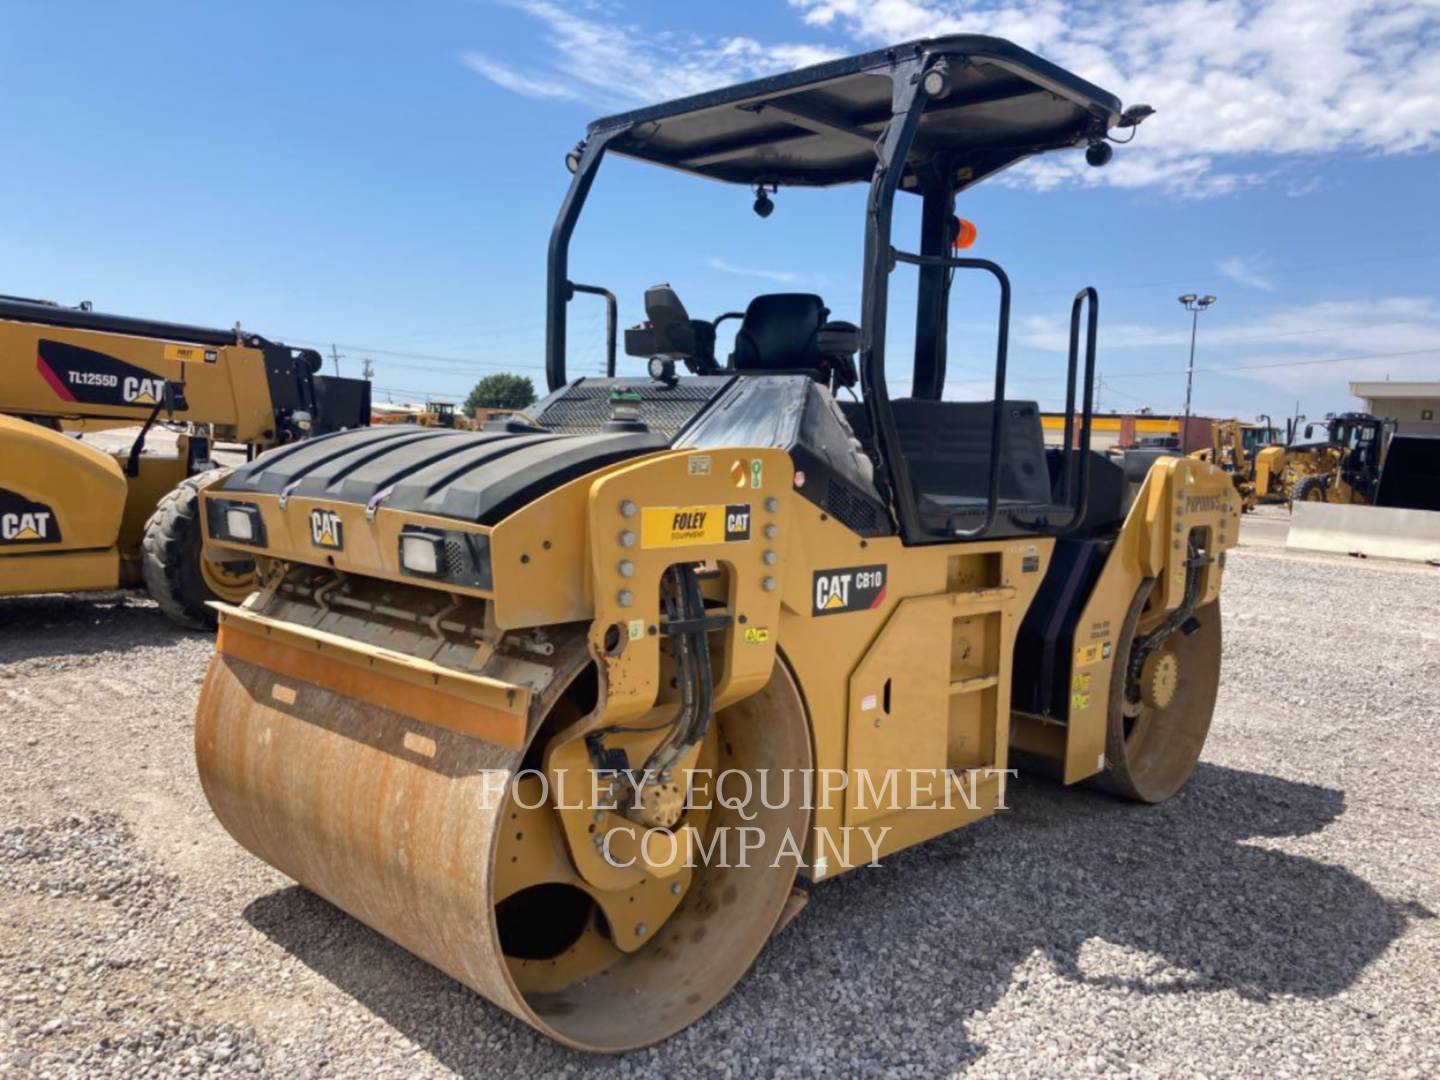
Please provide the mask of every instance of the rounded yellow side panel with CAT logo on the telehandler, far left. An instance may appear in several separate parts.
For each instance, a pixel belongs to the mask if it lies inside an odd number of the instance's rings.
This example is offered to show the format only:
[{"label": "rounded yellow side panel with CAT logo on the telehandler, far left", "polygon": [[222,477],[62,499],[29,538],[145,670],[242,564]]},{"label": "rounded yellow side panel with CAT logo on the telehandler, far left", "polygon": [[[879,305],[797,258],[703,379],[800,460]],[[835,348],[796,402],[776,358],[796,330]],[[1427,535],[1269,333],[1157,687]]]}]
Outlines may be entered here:
[{"label": "rounded yellow side panel with CAT logo on the telehandler, far left", "polygon": [[115,459],[0,416],[0,559],[115,546],[125,474]]}]

